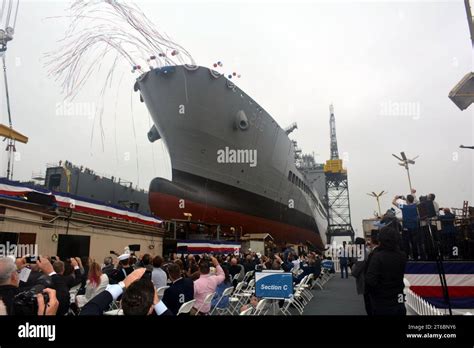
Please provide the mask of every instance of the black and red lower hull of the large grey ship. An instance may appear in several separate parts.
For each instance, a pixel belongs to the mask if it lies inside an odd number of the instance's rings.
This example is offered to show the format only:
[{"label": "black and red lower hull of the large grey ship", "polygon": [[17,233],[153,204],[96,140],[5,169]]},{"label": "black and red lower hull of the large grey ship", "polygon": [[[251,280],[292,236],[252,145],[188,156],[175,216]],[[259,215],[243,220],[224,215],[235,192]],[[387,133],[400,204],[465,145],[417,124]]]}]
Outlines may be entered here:
[{"label": "black and red lower hull of the large grey ship", "polygon": [[150,207],[166,219],[224,224],[237,234],[269,233],[277,242],[310,242],[322,248],[317,226],[310,216],[266,197],[207,178],[173,170],[173,181],[155,178],[150,184]]}]

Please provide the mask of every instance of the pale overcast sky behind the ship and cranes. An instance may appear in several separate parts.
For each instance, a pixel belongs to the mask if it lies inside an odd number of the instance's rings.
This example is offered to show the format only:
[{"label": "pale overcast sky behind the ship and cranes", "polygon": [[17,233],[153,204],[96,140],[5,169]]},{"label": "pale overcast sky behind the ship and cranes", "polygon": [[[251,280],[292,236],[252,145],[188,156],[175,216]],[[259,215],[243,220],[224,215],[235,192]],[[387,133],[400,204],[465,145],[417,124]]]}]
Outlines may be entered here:
[{"label": "pale overcast sky behind the ship and cranes", "polygon": [[[459,145],[474,142],[473,115],[448,99],[472,70],[462,0],[136,3],[197,64],[220,60],[225,72],[240,73],[239,87],[281,127],[296,121],[292,138],[304,152],[314,151],[318,162],[329,156],[328,106],[334,104],[359,233],[361,220],[376,209],[366,192],[389,192],[383,210],[395,194],[408,193],[405,172],[392,153],[420,156],[412,168],[413,185],[420,194],[435,192],[440,206],[472,201],[474,152]],[[65,159],[146,189],[153,177],[169,178],[163,144],[147,140],[151,121],[137,94],[131,105],[134,75],[125,63],[119,67],[120,85],[116,80],[104,99],[104,147],[97,120],[87,115],[87,108],[99,107],[97,83],[76,99],[82,113],[58,112],[63,95],[48,77],[43,55],[59,47],[68,22],[46,17],[66,14],[67,6],[21,1],[7,60],[14,127],[30,141],[17,145],[14,178],[30,179],[33,172],[44,172],[46,163]],[[0,122],[6,124],[3,81],[1,88]],[[6,152],[0,156],[4,174]]]}]

